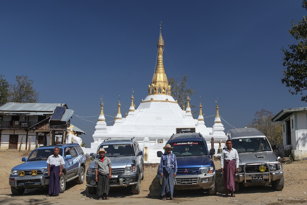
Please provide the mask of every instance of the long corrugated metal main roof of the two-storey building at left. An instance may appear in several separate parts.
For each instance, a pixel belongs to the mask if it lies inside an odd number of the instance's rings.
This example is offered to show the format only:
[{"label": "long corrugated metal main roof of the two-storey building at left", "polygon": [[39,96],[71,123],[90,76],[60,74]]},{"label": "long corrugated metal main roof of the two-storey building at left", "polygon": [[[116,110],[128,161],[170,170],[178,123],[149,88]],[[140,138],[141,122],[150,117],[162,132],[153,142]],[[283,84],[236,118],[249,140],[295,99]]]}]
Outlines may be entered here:
[{"label": "long corrugated metal main roof of the two-storey building at left", "polygon": [[56,106],[66,106],[65,103],[6,103],[0,107],[0,111],[10,112],[53,112]]}]

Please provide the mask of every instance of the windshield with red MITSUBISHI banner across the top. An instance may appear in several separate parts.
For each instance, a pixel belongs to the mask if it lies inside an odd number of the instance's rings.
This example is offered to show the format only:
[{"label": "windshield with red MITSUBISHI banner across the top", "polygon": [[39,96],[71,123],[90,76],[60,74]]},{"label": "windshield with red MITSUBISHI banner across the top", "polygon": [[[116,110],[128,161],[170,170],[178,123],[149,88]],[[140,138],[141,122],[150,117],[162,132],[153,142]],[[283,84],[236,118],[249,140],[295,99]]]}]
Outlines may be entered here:
[{"label": "windshield with red MITSUBISHI banner across the top", "polygon": [[203,141],[177,141],[169,144],[174,147],[172,153],[176,157],[207,155],[207,149]]}]

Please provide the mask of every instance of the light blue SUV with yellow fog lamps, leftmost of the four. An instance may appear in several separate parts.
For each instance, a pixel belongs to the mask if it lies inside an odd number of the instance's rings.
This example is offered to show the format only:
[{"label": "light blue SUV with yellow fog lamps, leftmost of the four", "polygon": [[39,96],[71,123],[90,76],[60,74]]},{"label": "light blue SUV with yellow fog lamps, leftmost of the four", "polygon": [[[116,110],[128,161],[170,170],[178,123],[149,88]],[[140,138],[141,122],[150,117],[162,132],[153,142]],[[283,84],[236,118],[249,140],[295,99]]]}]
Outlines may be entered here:
[{"label": "light blue SUV with yellow fog lamps, leftmost of the four", "polygon": [[47,159],[58,147],[59,154],[64,158],[62,176],[60,177],[60,191],[63,193],[66,182],[75,180],[77,184],[84,182],[86,158],[78,144],[59,144],[41,146],[34,149],[28,159],[22,157],[24,163],[12,168],[9,178],[12,194],[21,195],[25,189],[47,187],[49,176],[47,174]]}]

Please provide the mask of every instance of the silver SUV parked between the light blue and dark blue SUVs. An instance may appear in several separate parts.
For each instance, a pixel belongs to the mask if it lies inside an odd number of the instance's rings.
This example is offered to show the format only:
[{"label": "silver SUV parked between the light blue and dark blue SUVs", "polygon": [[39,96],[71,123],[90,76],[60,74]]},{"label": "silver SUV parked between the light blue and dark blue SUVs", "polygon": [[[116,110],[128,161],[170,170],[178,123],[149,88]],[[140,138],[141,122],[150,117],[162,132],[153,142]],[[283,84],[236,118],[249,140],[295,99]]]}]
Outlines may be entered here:
[{"label": "silver SUV parked between the light blue and dark blue SUVs", "polygon": [[[144,179],[144,157],[136,138],[108,138],[99,145],[100,148],[107,151],[104,156],[112,162],[110,187],[130,186],[133,194],[139,194]],[[95,159],[87,169],[86,186],[90,194],[96,194],[95,160],[99,154],[91,153],[90,157]]]}]

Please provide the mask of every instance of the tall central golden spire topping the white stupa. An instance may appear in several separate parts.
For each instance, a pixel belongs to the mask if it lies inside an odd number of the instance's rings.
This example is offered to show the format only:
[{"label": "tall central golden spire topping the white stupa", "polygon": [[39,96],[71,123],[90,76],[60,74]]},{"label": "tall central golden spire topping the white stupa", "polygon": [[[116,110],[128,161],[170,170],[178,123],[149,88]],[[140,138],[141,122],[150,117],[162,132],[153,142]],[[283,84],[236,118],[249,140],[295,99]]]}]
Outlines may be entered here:
[{"label": "tall central golden spire topping the white stupa", "polygon": [[157,68],[153,74],[151,85],[148,86],[148,94],[171,94],[171,87],[168,84],[168,80],[165,74],[163,65],[163,49],[164,40],[162,38],[162,22],[160,24],[160,36],[157,42],[158,57],[157,57]]}]

